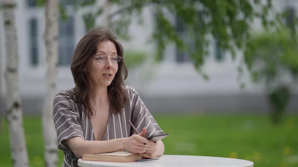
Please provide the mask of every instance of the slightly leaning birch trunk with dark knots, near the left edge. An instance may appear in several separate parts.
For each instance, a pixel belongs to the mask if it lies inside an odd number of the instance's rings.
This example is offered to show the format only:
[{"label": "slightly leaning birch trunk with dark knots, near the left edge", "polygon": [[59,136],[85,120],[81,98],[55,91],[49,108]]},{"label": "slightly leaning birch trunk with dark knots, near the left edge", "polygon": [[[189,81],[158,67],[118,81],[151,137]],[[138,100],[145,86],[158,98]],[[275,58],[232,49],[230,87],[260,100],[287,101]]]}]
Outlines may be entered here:
[{"label": "slightly leaning birch trunk with dark knots, near the left edge", "polygon": [[23,113],[18,87],[18,44],[14,1],[2,1],[6,41],[7,119],[13,166],[28,166],[28,155],[23,129]]}]

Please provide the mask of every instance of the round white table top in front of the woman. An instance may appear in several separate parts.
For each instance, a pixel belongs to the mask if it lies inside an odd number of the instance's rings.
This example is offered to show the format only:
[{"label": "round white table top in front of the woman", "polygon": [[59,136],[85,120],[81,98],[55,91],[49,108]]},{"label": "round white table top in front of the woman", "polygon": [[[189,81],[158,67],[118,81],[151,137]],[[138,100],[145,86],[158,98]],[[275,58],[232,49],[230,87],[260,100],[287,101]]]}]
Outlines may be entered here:
[{"label": "round white table top in front of the woman", "polygon": [[249,160],[213,157],[213,156],[192,156],[192,155],[162,155],[158,160],[139,161],[139,162],[105,162],[105,161],[89,161],[78,160],[81,167],[143,167],[143,166],[200,166],[200,167],[253,167],[254,163]]}]

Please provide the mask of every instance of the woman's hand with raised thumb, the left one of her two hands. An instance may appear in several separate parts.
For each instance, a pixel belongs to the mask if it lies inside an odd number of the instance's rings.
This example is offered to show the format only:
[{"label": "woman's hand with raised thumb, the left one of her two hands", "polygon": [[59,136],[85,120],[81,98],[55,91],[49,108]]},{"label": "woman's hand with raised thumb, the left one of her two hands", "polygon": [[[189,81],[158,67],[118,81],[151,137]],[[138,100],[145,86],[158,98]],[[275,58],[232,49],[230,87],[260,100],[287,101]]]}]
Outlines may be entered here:
[{"label": "woman's hand with raised thumb, the left one of her two hands", "polygon": [[124,149],[133,153],[144,153],[147,148],[153,148],[155,143],[142,137],[145,134],[146,128],[143,128],[140,135],[134,134],[128,137],[124,142]]}]

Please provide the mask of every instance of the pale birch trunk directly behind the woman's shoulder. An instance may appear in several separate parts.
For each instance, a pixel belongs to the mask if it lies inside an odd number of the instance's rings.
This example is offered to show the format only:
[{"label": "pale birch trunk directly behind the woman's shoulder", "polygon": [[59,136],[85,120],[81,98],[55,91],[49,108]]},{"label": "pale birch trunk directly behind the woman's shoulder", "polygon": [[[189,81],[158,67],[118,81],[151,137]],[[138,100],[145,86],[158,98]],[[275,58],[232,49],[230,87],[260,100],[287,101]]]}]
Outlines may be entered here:
[{"label": "pale birch trunk directly behind the woman's shoulder", "polygon": [[57,166],[57,134],[53,121],[53,99],[56,94],[58,59],[59,0],[47,0],[45,6],[46,91],[42,112],[44,162],[47,167]]}]

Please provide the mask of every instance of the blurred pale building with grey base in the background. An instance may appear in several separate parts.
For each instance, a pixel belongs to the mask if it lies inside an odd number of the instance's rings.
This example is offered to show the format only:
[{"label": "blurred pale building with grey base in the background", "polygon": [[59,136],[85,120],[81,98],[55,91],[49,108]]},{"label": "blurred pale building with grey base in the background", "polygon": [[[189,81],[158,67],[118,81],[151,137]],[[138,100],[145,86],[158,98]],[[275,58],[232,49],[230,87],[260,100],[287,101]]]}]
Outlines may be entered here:
[{"label": "blurred pale building with grey base in the background", "polygon": [[[42,97],[45,92],[45,49],[43,42],[44,9],[37,7],[35,1],[18,0],[17,31],[20,55],[19,85],[25,113],[40,113]],[[72,8],[70,1],[65,1],[68,19],[60,21],[59,26],[59,70],[57,91],[74,87],[70,62],[74,48],[86,33],[80,11]],[[273,1],[277,10],[298,9],[297,1]],[[147,60],[140,66],[129,69],[127,85],[134,87],[140,94],[147,108],[153,112],[265,112],[269,109],[262,85],[252,84],[244,71],[240,81],[245,88],[240,88],[237,67],[241,56],[232,60],[223,53],[215,40],[210,45],[210,56],[206,59],[203,71],[209,75],[205,80],[199,74],[188,55],[179,51],[175,45],[168,45],[159,63],[153,63],[156,43],[148,42],[153,30],[154,14],[150,8],[143,13],[144,24],[138,25],[133,19],[130,26],[132,40],[122,41],[124,51],[142,51]],[[184,29],[180,20],[168,16],[177,26],[183,38]],[[2,18],[0,18],[2,22]],[[256,21],[255,28],[260,27]],[[3,27],[0,27],[3,37]],[[4,55],[4,41],[0,41],[1,55]],[[124,52],[125,54],[125,52]],[[240,53],[239,53],[240,54]],[[1,68],[5,69],[4,61]],[[3,78],[1,78],[3,79]],[[2,86],[3,92],[5,87]],[[296,111],[292,97],[289,110]]]}]

